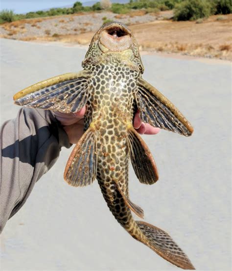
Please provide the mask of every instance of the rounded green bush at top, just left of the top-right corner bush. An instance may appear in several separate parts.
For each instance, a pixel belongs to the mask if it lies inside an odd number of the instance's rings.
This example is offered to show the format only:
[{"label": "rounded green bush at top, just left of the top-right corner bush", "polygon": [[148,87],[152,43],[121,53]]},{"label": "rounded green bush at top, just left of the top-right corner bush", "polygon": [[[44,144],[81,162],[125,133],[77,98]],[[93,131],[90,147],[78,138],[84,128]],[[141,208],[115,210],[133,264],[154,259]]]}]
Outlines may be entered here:
[{"label": "rounded green bush at top, just left of the top-right corner bush", "polygon": [[206,0],[185,0],[175,5],[174,20],[188,21],[209,17],[211,5]]}]

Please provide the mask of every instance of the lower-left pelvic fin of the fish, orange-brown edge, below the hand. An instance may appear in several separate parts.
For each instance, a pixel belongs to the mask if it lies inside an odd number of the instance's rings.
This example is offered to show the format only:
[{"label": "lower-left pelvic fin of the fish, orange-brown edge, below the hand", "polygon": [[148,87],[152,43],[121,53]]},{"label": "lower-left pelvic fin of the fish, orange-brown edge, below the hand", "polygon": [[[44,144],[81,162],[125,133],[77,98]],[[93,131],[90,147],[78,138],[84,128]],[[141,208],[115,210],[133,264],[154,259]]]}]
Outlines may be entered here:
[{"label": "lower-left pelvic fin of the fish, orange-brown edge, below the hand", "polygon": [[70,154],[64,179],[74,187],[87,186],[96,178],[96,139],[93,128],[89,128]]}]

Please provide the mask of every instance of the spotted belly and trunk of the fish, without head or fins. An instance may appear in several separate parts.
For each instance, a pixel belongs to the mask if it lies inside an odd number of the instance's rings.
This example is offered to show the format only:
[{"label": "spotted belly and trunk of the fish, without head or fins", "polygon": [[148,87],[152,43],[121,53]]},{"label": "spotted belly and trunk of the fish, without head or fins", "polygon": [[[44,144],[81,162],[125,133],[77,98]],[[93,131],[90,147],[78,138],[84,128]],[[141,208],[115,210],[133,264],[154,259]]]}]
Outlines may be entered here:
[{"label": "spotted belly and trunk of the fish, without head or fins", "polygon": [[[91,108],[87,108],[88,112],[92,112],[91,125],[97,137],[96,178],[116,220],[135,235],[139,233],[139,228],[121,193],[129,196],[126,137],[128,127],[132,129],[135,113],[133,91],[139,71],[132,70],[130,63],[122,63],[117,55],[110,57],[110,61],[105,58],[101,64],[94,66],[93,92],[89,103]],[[85,129],[88,129],[88,125]]]}]

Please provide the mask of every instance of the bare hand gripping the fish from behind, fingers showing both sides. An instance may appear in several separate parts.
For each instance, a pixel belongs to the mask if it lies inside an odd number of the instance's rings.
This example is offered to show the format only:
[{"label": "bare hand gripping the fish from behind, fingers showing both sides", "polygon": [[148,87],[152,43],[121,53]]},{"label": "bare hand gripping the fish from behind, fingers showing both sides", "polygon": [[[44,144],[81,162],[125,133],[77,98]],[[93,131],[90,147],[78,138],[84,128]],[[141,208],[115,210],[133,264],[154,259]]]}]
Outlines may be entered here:
[{"label": "bare hand gripping the fish from behind, fingers showing both sides", "polygon": [[[72,144],[77,143],[83,135],[85,110],[86,108],[84,107],[76,113],[54,112],[56,119],[64,126],[63,128]],[[150,124],[142,122],[139,117],[139,111],[135,114],[133,125],[141,135],[156,135],[160,131],[160,128],[154,128]]]}]

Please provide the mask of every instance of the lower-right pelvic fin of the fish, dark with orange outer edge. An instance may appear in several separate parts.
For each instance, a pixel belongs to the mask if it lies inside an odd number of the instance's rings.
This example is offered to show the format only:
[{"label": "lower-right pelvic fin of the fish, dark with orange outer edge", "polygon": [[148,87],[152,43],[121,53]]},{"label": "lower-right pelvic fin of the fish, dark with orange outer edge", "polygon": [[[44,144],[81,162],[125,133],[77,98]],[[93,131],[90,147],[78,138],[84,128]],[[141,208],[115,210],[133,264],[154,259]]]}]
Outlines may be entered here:
[{"label": "lower-right pelvic fin of the fish, dark with orange outer edge", "polygon": [[133,127],[128,129],[127,144],[131,163],[140,183],[152,185],[158,181],[159,175],[152,154]]}]

